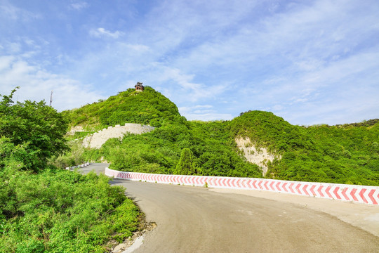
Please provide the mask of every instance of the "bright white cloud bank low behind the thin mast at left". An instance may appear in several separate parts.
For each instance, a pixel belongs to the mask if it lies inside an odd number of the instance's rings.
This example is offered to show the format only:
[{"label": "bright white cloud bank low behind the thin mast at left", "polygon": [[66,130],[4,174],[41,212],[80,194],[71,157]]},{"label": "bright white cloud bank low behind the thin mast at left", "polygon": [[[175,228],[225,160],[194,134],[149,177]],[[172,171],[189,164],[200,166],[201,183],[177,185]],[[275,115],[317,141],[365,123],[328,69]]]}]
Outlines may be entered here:
[{"label": "bright white cloud bank low behind the thin mast at left", "polygon": [[16,86],[20,86],[14,97],[18,101],[48,101],[53,90],[53,107],[58,110],[77,108],[104,98],[77,80],[51,74],[19,58],[0,56],[0,93],[7,95]]}]

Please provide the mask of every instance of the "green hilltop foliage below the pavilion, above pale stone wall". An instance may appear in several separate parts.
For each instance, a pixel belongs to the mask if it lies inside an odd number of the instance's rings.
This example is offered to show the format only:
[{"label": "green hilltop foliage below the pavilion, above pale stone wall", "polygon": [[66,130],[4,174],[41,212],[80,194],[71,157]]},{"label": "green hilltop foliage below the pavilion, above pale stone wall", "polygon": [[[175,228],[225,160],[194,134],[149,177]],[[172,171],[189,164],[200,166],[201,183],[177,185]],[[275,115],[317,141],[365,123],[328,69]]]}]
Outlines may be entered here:
[{"label": "green hilltop foliage below the pavilion, above pale stone wall", "polygon": [[149,86],[145,86],[143,92],[128,89],[107,100],[64,113],[69,117],[71,126],[84,124],[88,129],[125,123],[161,126],[165,121],[182,120],[176,105]]}]

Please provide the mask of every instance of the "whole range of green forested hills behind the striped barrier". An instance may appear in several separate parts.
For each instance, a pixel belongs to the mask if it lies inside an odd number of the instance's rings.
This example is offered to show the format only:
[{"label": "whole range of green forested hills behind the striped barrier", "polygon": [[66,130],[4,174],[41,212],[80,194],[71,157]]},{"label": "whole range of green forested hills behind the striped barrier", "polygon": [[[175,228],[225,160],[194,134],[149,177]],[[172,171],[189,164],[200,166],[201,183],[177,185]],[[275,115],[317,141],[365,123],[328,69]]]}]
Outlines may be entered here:
[{"label": "whole range of green forested hills behind the striped barrier", "polygon": [[182,168],[180,161],[188,158],[181,155],[187,154],[196,164],[188,171],[195,174],[262,177],[262,169],[237,147],[237,138],[247,138],[249,145],[275,157],[263,161],[266,178],[379,185],[378,119],[306,127],[291,125],[272,112],[249,111],[231,121],[187,121],[174,103],[151,87],[143,92],[128,89],[65,114],[71,126],[157,126],[150,133],[109,139],[100,149],[84,151],[84,158],[103,158],[121,171],[175,174]]}]

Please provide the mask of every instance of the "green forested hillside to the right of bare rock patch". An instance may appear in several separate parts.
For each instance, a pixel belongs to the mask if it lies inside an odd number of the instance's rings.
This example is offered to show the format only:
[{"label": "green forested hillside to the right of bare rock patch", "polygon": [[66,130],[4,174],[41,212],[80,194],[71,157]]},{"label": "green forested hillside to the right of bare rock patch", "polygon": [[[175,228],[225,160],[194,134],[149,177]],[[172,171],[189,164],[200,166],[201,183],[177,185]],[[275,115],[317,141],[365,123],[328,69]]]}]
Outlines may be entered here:
[{"label": "green forested hillside to the right of bare rock patch", "polygon": [[232,120],[231,131],[282,156],[267,177],[379,186],[378,120],[305,127],[253,111]]}]

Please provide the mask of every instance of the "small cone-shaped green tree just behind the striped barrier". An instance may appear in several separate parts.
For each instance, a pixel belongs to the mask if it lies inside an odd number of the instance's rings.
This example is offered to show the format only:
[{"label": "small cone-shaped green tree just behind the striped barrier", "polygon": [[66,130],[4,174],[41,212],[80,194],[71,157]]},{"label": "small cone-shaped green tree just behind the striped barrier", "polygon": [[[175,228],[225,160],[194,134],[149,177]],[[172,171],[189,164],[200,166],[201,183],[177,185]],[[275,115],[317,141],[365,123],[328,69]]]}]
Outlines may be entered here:
[{"label": "small cone-shaped green tree just behind the striped barrier", "polygon": [[202,171],[196,162],[196,157],[189,148],[183,148],[180,160],[176,165],[174,174],[177,175],[201,175]]}]

